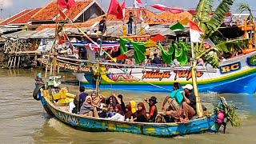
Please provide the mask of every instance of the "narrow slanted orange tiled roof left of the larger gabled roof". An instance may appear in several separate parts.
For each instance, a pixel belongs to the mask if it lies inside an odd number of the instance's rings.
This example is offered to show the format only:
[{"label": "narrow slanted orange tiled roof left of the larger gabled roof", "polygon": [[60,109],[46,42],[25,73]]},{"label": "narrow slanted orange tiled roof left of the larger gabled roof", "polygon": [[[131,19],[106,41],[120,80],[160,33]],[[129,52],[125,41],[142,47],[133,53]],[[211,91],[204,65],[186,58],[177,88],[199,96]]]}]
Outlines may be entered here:
[{"label": "narrow slanted orange tiled roof left of the larger gabled roof", "polygon": [[9,22],[8,24],[24,24],[30,21],[30,18],[36,14],[42,8],[36,8],[30,10],[28,13],[23,14],[21,17],[14,19],[13,21]]}]

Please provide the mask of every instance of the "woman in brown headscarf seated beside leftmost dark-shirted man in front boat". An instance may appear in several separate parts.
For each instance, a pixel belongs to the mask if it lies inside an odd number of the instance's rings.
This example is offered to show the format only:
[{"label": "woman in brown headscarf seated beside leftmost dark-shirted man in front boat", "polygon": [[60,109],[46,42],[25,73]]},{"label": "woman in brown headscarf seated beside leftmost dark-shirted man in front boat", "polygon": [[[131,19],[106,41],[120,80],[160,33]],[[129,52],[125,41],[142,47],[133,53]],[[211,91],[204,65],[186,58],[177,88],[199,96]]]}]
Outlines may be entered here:
[{"label": "woman in brown headscarf seated beside leftmost dark-shirted man in front boat", "polygon": [[86,116],[94,116],[94,106],[91,105],[92,98],[90,96],[86,97],[85,102],[82,103],[79,114],[84,114]]}]

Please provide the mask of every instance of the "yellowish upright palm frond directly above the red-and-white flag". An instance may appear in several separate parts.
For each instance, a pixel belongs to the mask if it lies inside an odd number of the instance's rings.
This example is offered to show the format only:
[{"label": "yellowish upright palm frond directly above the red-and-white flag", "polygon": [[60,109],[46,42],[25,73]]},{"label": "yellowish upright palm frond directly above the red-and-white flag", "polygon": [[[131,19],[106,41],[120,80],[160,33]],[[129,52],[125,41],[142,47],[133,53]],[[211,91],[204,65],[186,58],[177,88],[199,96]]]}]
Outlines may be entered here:
[{"label": "yellowish upright palm frond directly above the red-and-white flag", "polygon": [[194,14],[194,21],[198,23],[198,26],[202,30],[206,30],[206,23],[210,21],[211,8],[213,6],[213,0],[200,0]]}]

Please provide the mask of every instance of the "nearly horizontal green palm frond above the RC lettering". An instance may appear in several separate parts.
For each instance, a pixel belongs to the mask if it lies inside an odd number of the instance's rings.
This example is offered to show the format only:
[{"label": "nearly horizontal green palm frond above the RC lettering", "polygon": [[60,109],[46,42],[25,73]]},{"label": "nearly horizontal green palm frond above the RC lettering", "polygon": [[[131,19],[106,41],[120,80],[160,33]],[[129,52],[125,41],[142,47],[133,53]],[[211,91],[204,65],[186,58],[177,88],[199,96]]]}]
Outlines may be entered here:
[{"label": "nearly horizontal green palm frond above the RC lettering", "polygon": [[250,39],[243,38],[243,39],[234,39],[227,42],[220,42],[215,47],[218,49],[219,52],[230,52],[233,50],[243,50],[248,48]]}]

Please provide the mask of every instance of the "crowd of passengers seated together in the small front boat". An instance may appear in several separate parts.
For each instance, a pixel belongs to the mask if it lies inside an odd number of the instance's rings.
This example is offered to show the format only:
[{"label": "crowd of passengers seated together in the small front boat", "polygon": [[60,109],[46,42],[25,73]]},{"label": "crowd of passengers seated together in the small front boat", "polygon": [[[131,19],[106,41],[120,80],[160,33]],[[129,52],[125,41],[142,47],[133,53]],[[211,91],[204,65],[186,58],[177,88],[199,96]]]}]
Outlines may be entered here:
[{"label": "crowd of passengers seated together in the small front boat", "polygon": [[[196,100],[193,86],[187,84],[180,89],[178,82],[174,82],[173,91],[162,102],[162,113],[158,113],[157,98],[144,98],[148,105],[148,111],[143,102],[130,101],[128,105],[123,101],[122,94],[112,94],[105,98],[102,94],[93,92],[87,94],[83,86],[80,87],[79,96],[70,102],[70,113],[82,114],[95,118],[107,118],[116,121],[127,122],[157,122],[161,115],[165,122],[189,122],[196,115]],[[166,102],[169,107],[165,109]],[[202,106],[204,110],[206,108]]]}]

